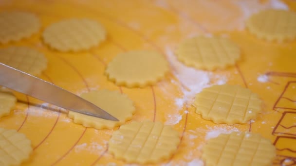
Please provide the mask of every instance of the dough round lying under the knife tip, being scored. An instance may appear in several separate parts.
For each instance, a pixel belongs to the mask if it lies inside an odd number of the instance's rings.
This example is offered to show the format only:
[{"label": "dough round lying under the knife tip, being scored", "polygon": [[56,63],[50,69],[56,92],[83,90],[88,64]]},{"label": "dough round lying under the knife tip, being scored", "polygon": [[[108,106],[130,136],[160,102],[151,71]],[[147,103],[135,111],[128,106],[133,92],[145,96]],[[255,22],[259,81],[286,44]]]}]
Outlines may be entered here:
[{"label": "dough round lying under the knife tip, being scored", "polygon": [[74,123],[82,124],[85,127],[95,129],[113,129],[130,120],[135,113],[135,107],[126,94],[117,91],[99,90],[83,93],[81,97],[92,102],[103,110],[107,111],[119,121],[101,119],[94,116],[69,111],[68,116],[73,118]]}]

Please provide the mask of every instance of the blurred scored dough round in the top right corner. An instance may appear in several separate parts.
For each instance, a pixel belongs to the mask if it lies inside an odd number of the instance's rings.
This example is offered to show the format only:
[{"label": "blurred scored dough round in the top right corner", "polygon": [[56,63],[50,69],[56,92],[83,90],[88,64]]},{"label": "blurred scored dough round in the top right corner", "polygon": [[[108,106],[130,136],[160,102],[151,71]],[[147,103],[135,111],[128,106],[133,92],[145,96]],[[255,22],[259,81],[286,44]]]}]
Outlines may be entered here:
[{"label": "blurred scored dough round in the top right corner", "polygon": [[267,9],[246,21],[250,33],[268,41],[293,40],[296,38],[296,13],[292,11]]}]

